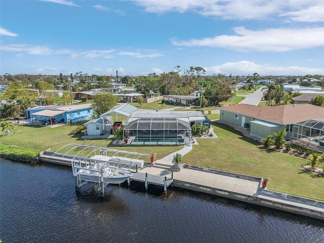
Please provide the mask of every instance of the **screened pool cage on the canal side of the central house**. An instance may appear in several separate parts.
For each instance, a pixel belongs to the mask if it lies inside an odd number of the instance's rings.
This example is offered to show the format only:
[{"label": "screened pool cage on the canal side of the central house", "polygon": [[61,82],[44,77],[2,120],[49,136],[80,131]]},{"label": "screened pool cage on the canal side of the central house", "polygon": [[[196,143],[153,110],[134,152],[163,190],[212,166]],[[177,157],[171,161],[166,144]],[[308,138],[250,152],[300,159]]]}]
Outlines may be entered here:
[{"label": "screened pool cage on the canal side of the central house", "polygon": [[129,144],[190,144],[191,128],[186,118],[138,118],[124,128]]}]

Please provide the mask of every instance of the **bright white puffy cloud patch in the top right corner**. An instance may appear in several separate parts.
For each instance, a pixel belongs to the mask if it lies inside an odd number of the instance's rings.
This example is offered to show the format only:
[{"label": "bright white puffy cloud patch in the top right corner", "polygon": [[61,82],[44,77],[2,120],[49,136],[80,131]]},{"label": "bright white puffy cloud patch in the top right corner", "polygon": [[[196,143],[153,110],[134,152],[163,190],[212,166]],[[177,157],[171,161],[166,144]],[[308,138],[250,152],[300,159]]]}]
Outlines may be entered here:
[{"label": "bright white puffy cloud patch in the top right corner", "polygon": [[288,19],[298,22],[323,22],[324,21],[324,3],[310,6],[299,11],[288,12],[279,15],[279,17],[288,16]]}]

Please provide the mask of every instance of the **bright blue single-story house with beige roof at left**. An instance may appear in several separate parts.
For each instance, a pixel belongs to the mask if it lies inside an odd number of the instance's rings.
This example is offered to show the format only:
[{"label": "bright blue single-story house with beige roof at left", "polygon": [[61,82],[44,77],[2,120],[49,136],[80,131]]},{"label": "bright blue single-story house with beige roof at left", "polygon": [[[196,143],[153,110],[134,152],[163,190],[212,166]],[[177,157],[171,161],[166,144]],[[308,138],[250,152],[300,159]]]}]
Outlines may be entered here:
[{"label": "bright blue single-story house with beige roof at left", "polygon": [[74,123],[93,116],[90,104],[82,105],[47,105],[26,109],[27,119],[32,123],[53,125],[56,123]]}]

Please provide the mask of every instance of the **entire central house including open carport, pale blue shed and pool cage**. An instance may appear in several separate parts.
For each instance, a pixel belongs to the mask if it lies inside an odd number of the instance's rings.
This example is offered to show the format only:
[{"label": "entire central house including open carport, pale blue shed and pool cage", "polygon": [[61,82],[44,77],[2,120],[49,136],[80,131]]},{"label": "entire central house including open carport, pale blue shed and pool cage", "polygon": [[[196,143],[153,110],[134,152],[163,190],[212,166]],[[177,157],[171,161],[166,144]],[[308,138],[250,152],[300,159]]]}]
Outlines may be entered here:
[{"label": "entire central house including open carport, pale blue shed and pool cage", "polygon": [[190,144],[191,126],[206,121],[200,111],[136,111],[122,104],[85,123],[87,135],[110,133],[112,124],[125,118],[124,141],[129,144]]}]

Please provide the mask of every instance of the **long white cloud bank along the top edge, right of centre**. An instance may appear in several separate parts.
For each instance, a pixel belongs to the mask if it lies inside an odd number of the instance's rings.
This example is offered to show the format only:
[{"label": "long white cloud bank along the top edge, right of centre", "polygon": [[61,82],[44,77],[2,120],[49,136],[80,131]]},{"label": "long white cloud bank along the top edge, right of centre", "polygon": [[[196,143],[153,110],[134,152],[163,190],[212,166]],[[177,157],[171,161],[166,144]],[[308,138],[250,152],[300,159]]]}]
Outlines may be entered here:
[{"label": "long white cloud bank along the top edge, right of centre", "polygon": [[290,16],[290,20],[322,21],[322,0],[133,0],[146,12],[194,12],[203,16],[222,19],[266,19]]}]

